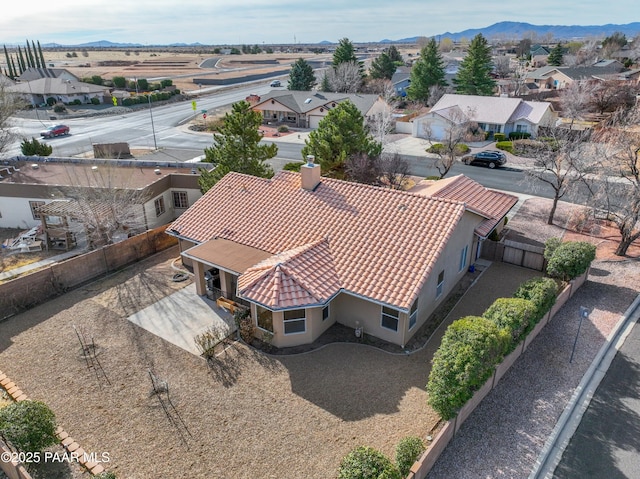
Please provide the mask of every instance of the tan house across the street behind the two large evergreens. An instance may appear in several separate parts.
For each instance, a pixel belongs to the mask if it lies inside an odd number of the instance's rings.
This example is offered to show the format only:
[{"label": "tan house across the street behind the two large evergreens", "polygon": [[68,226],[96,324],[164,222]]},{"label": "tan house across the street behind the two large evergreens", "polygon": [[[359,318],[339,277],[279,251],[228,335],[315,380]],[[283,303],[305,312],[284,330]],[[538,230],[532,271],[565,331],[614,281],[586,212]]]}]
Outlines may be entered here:
[{"label": "tan house across the street behind the two large evergreens", "polygon": [[378,95],[273,90],[260,97],[252,108],[262,113],[265,122],[292,123],[298,128],[318,128],[329,111],[350,100],[365,119],[389,109]]}]

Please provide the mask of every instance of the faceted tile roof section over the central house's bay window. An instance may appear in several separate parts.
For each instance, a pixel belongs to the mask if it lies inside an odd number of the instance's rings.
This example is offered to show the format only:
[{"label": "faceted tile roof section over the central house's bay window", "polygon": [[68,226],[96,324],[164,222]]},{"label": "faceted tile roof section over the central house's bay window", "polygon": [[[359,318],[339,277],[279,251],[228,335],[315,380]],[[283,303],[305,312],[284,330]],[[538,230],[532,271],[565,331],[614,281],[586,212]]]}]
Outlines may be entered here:
[{"label": "faceted tile roof section over the central house's bay window", "polygon": [[269,309],[319,306],[340,289],[326,239],[273,255],[238,278],[238,293]]}]

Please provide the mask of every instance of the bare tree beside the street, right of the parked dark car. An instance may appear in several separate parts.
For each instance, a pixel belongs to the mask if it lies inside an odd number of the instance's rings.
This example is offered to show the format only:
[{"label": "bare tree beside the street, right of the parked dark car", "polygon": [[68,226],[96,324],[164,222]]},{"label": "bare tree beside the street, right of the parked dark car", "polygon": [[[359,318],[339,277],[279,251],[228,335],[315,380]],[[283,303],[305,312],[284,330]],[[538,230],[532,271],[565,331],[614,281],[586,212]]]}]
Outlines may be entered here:
[{"label": "bare tree beside the street, right of the parked dark car", "polygon": [[538,144],[534,167],[525,171],[531,185],[545,185],[553,190],[553,203],[547,224],[552,225],[560,201],[576,183],[586,183],[586,173],[593,167],[591,145],[586,143],[589,130],[554,128]]}]

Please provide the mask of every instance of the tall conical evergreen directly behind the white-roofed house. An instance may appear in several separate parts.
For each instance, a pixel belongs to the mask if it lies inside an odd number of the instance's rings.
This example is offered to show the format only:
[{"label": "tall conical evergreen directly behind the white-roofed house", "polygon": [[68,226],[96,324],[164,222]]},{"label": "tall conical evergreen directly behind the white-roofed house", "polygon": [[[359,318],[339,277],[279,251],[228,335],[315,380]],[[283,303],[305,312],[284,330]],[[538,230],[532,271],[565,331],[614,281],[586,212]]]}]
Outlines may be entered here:
[{"label": "tall conical evergreen directly behind the white-roofed house", "polygon": [[460,63],[453,80],[456,92],[463,95],[492,95],[496,87],[495,80],[491,78],[492,66],[491,47],[487,39],[478,33],[471,40],[467,56]]}]

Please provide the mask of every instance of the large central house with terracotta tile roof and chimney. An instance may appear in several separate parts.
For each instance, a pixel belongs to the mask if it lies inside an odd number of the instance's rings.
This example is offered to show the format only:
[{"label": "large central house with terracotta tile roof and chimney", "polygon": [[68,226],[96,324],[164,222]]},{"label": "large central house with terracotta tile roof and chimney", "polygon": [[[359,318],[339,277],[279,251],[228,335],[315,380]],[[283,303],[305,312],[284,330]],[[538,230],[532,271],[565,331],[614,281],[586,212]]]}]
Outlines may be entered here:
[{"label": "large central house with terracotta tile roof and chimney", "polygon": [[307,163],[272,179],[227,174],[167,233],[197,294],[245,302],[276,347],[334,323],[404,346],[516,201],[464,177],[416,194]]}]

